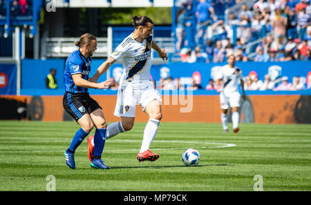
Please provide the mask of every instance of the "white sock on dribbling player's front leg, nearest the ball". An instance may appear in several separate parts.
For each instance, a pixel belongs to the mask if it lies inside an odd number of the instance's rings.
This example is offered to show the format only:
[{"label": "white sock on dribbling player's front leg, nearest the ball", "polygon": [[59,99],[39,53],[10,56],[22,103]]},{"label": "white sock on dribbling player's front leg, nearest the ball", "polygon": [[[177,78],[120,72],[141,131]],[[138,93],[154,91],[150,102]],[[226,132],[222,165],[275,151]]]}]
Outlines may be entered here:
[{"label": "white sock on dribbling player's front leg, nearest the ball", "polygon": [[142,139],[140,153],[149,150],[149,146],[151,145],[154,137],[156,137],[156,134],[158,132],[159,124],[160,120],[149,119],[147,126],[144,128],[144,138]]}]

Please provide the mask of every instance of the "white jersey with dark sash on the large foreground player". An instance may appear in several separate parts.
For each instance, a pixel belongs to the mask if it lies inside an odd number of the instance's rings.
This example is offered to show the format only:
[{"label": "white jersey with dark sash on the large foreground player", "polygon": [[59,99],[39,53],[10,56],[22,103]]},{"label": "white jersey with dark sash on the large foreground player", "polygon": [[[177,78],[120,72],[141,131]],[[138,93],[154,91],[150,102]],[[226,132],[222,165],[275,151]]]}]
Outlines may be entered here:
[{"label": "white jersey with dark sash on the large foreground player", "polygon": [[122,61],[124,70],[120,78],[121,86],[142,87],[144,84],[149,85],[151,81],[151,41],[153,37],[150,35],[140,43],[133,39],[132,35],[133,33],[115,48],[111,57]]}]

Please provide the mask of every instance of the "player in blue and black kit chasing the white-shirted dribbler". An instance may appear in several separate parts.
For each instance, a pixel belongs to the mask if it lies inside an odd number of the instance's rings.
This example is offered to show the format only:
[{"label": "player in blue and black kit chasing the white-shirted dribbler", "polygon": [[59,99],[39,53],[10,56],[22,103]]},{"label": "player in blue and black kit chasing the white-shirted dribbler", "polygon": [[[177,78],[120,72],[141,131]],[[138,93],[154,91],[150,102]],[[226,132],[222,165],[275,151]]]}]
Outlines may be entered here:
[{"label": "player in blue and black kit chasing the white-shirted dribbler", "polygon": [[66,60],[64,72],[66,92],[63,106],[81,128],[77,130],[70,146],[64,153],[66,164],[70,168],[75,168],[75,150],[95,126],[94,159],[91,162],[91,167],[108,169],[109,167],[105,166],[101,159],[105,144],[106,120],[100,105],[88,94],[88,88],[108,88],[110,81],[101,83],[88,81],[88,74],[91,70],[91,56],[97,46],[96,38],[86,33],[80,37],[79,41],[75,42],[75,45],[79,49],[72,52]]}]

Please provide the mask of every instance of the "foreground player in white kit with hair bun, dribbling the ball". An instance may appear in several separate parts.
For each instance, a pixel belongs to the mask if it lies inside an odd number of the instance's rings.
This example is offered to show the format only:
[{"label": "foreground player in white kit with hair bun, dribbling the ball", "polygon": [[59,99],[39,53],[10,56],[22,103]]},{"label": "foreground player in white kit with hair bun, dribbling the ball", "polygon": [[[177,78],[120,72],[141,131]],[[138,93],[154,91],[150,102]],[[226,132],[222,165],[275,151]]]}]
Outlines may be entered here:
[{"label": "foreground player in white kit with hair bun, dribbling the ball", "polygon": [[[107,127],[106,139],[131,130],[134,125],[136,105],[140,104],[142,110],[149,115],[149,121],[144,129],[142,146],[137,159],[140,162],[144,160],[155,161],[159,155],[151,153],[149,146],[156,137],[162,119],[162,98],[151,82],[151,48],[156,50],[163,60],[167,60],[167,53],[153,41],[153,21],[149,17],[134,15],[133,26],[135,26],[135,30],[117,46],[111,56],[97,69],[91,81],[96,82],[100,75],[106,72],[115,61],[122,62],[124,70],[120,78],[114,112],[115,116],[121,117],[121,121]],[[91,140],[89,137],[88,157],[90,159],[93,157]]]}]

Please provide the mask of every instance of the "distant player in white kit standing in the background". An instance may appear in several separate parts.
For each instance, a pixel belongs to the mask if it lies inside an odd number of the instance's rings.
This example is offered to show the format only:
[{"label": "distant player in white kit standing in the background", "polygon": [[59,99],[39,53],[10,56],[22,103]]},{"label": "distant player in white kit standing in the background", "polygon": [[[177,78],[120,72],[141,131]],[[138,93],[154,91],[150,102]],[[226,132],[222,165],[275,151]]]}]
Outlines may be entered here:
[{"label": "distant player in white kit standing in the background", "polygon": [[[234,66],[236,57],[230,55],[227,59],[228,64],[221,67],[216,79],[217,92],[220,92],[220,108],[222,109],[221,121],[223,130],[228,132],[228,113],[229,107],[232,108],[232,128],[234,133],[238,133],[238,121],[240,119],[238,108],[240,107],[241,95],[238,92],[238,84],[241,82],[243,90],[243,99],[245,99],[244,81],[242,79],[242,70]],[[220,86],[220,80],[223,81],[223,86]]]}]

